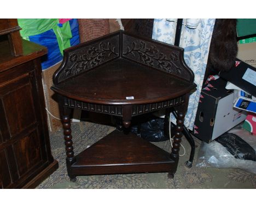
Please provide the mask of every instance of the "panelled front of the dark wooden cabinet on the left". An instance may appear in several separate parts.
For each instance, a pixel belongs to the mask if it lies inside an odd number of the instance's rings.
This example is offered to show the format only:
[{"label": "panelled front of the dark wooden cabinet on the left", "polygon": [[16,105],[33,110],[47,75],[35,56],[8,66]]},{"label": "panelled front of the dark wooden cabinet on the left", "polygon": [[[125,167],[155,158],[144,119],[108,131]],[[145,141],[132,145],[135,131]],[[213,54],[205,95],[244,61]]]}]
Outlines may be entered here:
[{"label": "panelled front of the dark wooden cabinet on the left", "polygon": [[0,166],[4,167],[0,168],[0,185],[3,188],[15,187],[47,161],[38,96],[32,61],[0,74]]}]

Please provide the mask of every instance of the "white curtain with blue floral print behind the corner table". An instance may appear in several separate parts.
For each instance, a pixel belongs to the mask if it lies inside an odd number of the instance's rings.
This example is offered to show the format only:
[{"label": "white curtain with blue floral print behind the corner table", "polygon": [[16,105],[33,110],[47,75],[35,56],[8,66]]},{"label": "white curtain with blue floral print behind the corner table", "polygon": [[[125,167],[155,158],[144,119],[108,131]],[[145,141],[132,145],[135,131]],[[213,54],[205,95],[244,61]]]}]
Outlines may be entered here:
[{"label": "white curtain with blue floral print behind the corner table", "polygon": [[[177,19],[154,19],[152,38],[173,44]],[[197,106],[205,76],[215,19],[183,19],[180,47],[184,48],[184,59],[195,74],[196,91],[190,95],[184,125],[193,130]],[[172,121],[175,122],[174,117]]]}]

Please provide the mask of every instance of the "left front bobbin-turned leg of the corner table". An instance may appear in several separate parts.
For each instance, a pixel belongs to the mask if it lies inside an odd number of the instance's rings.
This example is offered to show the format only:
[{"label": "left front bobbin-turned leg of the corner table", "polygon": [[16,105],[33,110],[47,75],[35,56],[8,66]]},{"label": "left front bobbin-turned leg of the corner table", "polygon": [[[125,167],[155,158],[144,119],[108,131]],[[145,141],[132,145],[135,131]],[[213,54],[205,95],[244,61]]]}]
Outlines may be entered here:
[{"label": "left front bobbin-turned leg of the corner table", "polygon": [[75,182],[77,179],[75,175],[71,173],[71,165],[75,162],[74,152],[73,152],[73,142],[72,142],[72,134],[71,134],[71,108],[61,107],[61,120],[64,132],[64,139],[66,145],[66,163],[67,163],[67,172],[70,181]]}]

